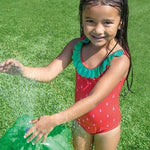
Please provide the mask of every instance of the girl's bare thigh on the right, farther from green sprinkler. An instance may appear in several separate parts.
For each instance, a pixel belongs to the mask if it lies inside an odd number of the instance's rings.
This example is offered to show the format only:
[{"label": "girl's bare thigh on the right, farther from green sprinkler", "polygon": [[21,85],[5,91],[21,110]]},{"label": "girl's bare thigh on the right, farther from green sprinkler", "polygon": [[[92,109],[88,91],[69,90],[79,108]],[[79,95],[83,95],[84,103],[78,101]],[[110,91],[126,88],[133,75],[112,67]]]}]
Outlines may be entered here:
[{"label": "girl's bare thigh on the right, farther from green sprinkler", "polygon": [[116,150],[120,140],[120,126],[106,133],[94,135],[95,150]]}]

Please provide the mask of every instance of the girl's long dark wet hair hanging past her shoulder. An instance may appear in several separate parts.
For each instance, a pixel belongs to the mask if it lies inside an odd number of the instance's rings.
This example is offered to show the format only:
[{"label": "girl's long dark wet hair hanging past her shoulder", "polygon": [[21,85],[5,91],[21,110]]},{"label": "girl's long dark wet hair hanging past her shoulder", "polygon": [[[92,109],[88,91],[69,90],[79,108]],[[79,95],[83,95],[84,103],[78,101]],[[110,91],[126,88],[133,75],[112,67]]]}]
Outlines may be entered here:
[{"label": "girl's long dark wet hair hanging past her shoulder", "polygon": [[131,91],[131,86],[133,82],[133,70],[132,70],[132,77],[131,77],[131,82],[129,84],[129,73],[131,71],[131,54],[130,54],[130,49],[128,45],[128,40],[127,40],[127,28],[128,28],[128,0],[80,0],[80,5],[79,5],[79,16],[80,16],[80,35],[81,37],[84,36],[83,32],[83,25],[82,25],[82,14],[87,5],[107,5],[114,7],[118,9],[118,12],[120,14],[121,18],[121,27],[118,29],[117,34],[116,34],[116,40],[117,42],[122,46],[122,48],[127,52],[128,57],[130,59],[130,68],[128,72],[128,76],[126,78],[127,81],[127,87],[128,91]]}]

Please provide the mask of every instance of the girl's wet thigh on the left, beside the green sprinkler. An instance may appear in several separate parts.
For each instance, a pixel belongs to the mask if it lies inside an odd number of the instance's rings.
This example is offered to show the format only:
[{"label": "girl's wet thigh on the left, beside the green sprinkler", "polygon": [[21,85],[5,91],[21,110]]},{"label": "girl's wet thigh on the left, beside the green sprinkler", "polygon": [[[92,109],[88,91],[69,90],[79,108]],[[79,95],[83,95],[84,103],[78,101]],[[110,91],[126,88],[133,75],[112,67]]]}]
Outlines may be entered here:
[{"label": "girl's wet thigh on the left, beside the green sprinkler", "polygon": [[72,127],[74,150],[92,150],[93,135],[87,133],[76,121]]}]

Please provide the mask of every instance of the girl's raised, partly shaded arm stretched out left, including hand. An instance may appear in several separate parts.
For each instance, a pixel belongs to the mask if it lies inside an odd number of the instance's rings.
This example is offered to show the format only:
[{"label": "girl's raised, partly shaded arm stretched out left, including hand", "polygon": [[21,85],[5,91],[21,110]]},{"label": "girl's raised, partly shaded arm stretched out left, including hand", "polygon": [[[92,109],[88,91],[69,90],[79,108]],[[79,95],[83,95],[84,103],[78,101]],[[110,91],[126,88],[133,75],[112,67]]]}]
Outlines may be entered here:
[{"label": "girl's raised, partly shaded arm stretched out left, including hand", "polygon": [[74,39],[67,44],[64,50],[50,64],[45,67],[28,67],[14,59],[8,59],[0,64],[0,72],[8,74],[21,74],[26,78],[48,82],[55,78],[71,62],[74,45],[79,39]]}]

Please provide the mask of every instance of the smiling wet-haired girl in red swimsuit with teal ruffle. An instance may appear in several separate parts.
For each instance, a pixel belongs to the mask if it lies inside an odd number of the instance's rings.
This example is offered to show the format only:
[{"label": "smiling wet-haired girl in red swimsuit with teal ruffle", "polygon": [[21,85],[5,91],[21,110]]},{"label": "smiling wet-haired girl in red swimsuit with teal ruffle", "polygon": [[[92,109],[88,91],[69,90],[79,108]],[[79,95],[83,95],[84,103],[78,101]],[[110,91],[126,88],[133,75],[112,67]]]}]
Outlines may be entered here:
[{"label": "smiling wet-haired girl in red swimsuit with teal ruffle", "polygon": [[[73,39],[46,67],[27,67],[8,59],[0,72],[37,81],[54,79],[73,60],[76,68],[75,104],[31,121],[25,134],[33,144],[46,139],[62,123],[73,123],[75,150],[116,150],[120,139],[119,93],[128,79],[131,58],[127,43],[127,0],[80,0],[81,36]],[[56,67],[57,66],[57,67]]]}]

